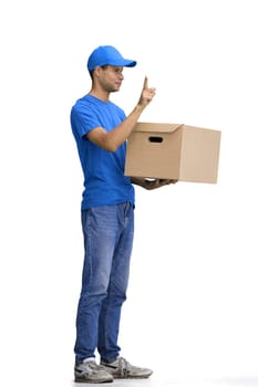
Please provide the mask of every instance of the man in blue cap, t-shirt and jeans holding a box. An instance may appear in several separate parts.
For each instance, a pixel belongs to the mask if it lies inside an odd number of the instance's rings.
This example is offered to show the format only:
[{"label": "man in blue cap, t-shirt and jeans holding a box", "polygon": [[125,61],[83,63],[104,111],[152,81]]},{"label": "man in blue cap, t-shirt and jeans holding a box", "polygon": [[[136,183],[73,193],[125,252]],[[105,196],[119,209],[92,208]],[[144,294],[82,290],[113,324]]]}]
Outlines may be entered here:
[{"label": "man in blue cap, t-shirt and jeans holding a box", "polygon": [[117,345],[134,234],[133,184],[154,189],[172,182],[124,176],[126,139],[155,95],[145,77],[140,100],[127,117],[110,101],[110,94],[122,85],[124,66],[135,65],[111,45],[95,49],[87,60],[92,87],[71,111],[84,174],[81,210],[85,257],[76,316],[75,381],[107,383],[152,374],[121,357]]}]

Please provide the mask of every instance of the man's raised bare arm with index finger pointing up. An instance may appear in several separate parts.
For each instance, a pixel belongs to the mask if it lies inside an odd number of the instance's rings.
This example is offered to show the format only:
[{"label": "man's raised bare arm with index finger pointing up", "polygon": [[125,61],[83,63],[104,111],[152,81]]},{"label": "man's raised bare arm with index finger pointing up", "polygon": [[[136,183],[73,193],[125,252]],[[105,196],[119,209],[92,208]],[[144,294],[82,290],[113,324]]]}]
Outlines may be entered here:
[{"label": "man's raised bare arm with index finger pointing up", "polygon": [[87,134],[87,138],[105,150],[115,151],[128,138],[141,114],[153,100],[154,95],[155,88],[148,87],[147,77],[145,77],[138,103],[132,113],[114,129],[106,132],[103,127],[96,127]]}]

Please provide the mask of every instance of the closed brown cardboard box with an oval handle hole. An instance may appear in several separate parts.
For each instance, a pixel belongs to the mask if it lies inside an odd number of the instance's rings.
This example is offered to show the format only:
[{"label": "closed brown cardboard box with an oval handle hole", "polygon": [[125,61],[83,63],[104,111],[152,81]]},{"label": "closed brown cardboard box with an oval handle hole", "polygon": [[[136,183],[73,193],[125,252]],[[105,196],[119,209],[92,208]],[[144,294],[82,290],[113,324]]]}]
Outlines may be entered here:
[{"label": "closed brown cardboard box with an oval handle hole", "polygon": [[220,132],[137,123],[127,139],[125,176],[217,182]]}]

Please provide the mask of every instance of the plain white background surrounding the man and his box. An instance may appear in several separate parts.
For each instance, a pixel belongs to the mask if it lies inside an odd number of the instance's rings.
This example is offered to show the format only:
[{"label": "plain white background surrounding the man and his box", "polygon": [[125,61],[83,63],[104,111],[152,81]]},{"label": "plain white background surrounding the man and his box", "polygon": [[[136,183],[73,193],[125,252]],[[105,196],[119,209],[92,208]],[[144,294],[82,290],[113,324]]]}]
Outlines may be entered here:
[{"label": "plain white background surrounding the man and his box", "polygon": [[23,0],[0,6],[2,386],[73,385],[82,174],[70,109],[100,44],[137,60],[113,101],[221,130],[217,185],[136,188],[120,344],[149,386],[258,385],[257,3]]}]

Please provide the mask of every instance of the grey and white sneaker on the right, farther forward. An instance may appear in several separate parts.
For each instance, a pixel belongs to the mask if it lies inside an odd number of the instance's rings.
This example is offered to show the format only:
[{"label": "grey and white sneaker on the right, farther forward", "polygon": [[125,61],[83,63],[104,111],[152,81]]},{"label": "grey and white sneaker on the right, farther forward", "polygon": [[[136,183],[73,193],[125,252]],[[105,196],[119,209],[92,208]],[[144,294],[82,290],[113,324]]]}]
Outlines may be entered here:
[{"label": "grey and white sneaker on the right, farther forward", "polygon": [[112,363],[101,362],[101,365],[116,379],[143,379],[153,373],[152,369],[133,366],[123,357],[117,357]]}]

